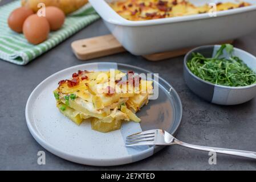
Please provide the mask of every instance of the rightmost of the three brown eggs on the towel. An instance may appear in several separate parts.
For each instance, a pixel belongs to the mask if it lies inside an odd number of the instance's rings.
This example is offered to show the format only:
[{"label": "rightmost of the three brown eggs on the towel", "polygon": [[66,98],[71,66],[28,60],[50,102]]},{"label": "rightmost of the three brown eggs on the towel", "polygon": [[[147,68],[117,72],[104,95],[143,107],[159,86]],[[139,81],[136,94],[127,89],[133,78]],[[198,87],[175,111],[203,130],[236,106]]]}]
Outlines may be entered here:
[{"label": "rightmost of the three brown eggs on the towel", "polygon": [[50,24],[51,31],[59,30],[65,21],[65,14],[58,7],[46,7],[46,18]]}]

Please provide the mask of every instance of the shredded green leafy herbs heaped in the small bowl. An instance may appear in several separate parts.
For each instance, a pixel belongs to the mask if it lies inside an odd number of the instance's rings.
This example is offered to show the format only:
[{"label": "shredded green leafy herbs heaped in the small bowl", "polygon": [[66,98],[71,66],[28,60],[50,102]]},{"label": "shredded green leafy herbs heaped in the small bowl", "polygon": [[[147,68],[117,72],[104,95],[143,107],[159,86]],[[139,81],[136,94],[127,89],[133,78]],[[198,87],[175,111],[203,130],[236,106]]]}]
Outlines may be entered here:
[{"label": "shredded green leafy herbs heaped in the small bowl", "polygon": [[[223,51],[229,53],[229,59],[221,57]],[[216,56],[206,58],[201,53],[192,53],[187,65],[190,71],[202,80],[224,86],[247,86],[256,83],[256,73],[239,57],[233,56],[233,46],[224,44],[218,49]]]}]

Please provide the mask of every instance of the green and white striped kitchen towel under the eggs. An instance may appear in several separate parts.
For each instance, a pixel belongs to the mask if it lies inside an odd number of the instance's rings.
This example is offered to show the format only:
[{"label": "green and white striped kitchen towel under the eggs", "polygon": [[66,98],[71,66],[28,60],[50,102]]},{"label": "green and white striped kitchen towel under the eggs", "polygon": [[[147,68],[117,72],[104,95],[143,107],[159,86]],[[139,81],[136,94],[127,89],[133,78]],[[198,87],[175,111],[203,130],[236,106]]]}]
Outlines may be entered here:
[{"label": "green and white striped kitchen towel under the eggs", "polygon": [[8,27],[8,16],[11,11],[20,6],[19,0],[0,6],[0,59],[18,65],[26,65],[35,57],[42,55],[99,18],[99,15],[88,3],[75,13],[68,15],[63,27],[58,31],[51,32],[45,42],[34,46],[27,42],[23,34],[17,34]]}]

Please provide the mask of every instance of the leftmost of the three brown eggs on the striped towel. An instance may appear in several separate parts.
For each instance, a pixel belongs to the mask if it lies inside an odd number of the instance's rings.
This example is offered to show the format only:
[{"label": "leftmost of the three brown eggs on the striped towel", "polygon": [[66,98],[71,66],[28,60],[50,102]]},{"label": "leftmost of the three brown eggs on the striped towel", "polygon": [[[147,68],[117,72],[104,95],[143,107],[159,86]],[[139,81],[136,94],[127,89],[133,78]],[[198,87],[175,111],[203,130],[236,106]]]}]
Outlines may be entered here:
[{"label": "leftmost of the three brown eggs on the striped towel", "polygon": [[15,9],[8,18],[9,27],[15,32],[22,33],[23,23],[32,14],[34,12],[27,7]]}]

